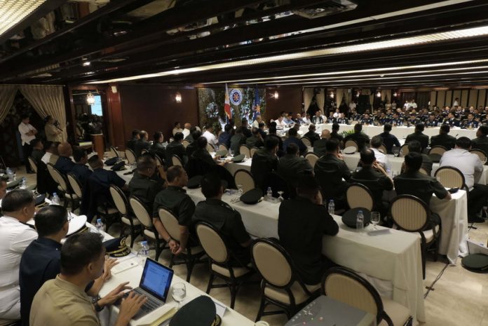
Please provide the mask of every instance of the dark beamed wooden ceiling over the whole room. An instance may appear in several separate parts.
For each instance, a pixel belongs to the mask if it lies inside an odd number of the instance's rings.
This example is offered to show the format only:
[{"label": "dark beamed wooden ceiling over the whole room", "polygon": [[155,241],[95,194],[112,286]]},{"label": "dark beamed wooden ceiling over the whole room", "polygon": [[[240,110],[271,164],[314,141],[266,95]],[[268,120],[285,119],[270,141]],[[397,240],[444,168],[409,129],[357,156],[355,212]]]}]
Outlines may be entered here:
[{"label": "dark beamed wooden ceiling over the whole room", "polygon": [[[55,29],[34,39],[31,26],[53,8]],[[0,35],[0,83],[102,83],[165,72],[133,82],[488,86],[488,34],[252,61],[488,27],[487,12],[486,0],[48,0]],[[233,66],[242,60],[251,61]]]}]

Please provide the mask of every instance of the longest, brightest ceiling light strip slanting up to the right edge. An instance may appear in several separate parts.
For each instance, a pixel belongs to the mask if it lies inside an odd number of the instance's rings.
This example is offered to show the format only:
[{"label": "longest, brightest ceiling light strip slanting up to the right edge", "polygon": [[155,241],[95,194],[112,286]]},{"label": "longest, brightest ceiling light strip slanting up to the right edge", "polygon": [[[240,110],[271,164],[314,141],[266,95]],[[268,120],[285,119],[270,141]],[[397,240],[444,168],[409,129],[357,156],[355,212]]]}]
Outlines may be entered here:
[{"label": "longest, brightest ceiling light strip slanting up to the right edge", "polygon": [[[192,72],[205,72],[215,69],[226,69],[236,67],[243,67],[253,64],[265,64],[270,62],[283,62],[288,60],[304,60],[310,57],[323,57],[325,55],[339,55],[343,53],[358,53],[369,50],[382,50],[386,48],[398,48],[400,46],[416,46],[421,44],[436,43],[439,41],[448,41],[452,39],[464,39],[473,36],[488,35],[488,26],[473,27],[466,29],[456,29],[449,32],[439,32],[433,34],[424,34],[418,36],[403,37],[400,39],[390,39],[386,41],[376,41],[370,43],[355,44],[350,46],[338,46],[335,48],[323,48],[319,50],[308,50],[298,53],[288,53],[283,55],[272,55],[269,57],[257,57],[255,59],[237,60],[222,62],[217,64],[206,64],[200,67],[190,67],[183,69],[172,69],[165,72],[157,72],[154,74],[143,74],[137,76],[122,77],[117,79],[109,79],[106,81],[93,81],[90,83],[110,83],[116,81],[133,81],[137,79],[149,79],[153,77],[172,76],[179,74],[189,74]],[[377,69],[374,69],[377,71]]]}]

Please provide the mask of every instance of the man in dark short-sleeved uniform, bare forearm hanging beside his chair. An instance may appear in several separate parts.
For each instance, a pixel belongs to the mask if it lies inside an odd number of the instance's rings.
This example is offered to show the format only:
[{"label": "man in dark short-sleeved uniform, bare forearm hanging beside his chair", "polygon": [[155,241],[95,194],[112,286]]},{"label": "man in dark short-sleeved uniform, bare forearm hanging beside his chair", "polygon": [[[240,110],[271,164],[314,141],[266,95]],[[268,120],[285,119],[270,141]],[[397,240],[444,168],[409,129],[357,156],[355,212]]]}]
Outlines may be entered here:
[{"label": "man in dark short-sleeved uniform, bare forearm hanging beside his chair", "polygon": [[[172,166],[166,172],[166,179],[168,187],[161,190],[154,199],[152,206],[153,224],[158,230],[159,236],[170,244],[170,249],[173,254],[180,254],[187,249],[187,246],[193,246],[196,241],[190,236],[191,217],[195,212],[195,203],[187,195],[187,191],[183,189],[187,186],[188,175],[187,172],[178,165]],[[178,219],[179,224],[179,243],[170,237],[170,234],[161,223],[159,219],[159,208],[170,210]]]}]

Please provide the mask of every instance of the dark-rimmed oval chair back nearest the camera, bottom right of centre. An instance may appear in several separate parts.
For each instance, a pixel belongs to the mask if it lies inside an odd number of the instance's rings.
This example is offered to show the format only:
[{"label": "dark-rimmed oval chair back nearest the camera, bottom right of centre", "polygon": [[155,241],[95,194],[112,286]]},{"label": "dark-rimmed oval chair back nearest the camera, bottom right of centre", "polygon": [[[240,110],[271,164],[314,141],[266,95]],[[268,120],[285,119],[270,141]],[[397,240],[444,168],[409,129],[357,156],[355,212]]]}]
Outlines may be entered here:
[{"label": "dark-rimmed oval chair back nearest the camera, bottom right of centre", "polygon": [[383,302],[374,287],[358,274],[344,267],[328,269],[322,279],[322,293],[334,300],[367,311],[382,319]]}]

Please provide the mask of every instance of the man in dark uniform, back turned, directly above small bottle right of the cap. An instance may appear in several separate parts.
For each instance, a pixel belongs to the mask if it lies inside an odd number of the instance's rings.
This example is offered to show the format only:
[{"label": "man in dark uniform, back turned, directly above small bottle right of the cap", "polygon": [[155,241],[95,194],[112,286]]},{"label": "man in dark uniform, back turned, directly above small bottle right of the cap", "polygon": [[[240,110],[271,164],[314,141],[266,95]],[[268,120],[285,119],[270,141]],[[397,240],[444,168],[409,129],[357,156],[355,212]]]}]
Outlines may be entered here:
[{"label": "man in dark uniform, back turned, directly above small bottle right of the cap", "polygon": [[269,174],[278,170],[279,161],[276,153],[278,151],[277,137],[268,137],[264,147],[258,149],[252,156],[251,173],[255,179],[257,188],[266,193],[269,186]]}]

